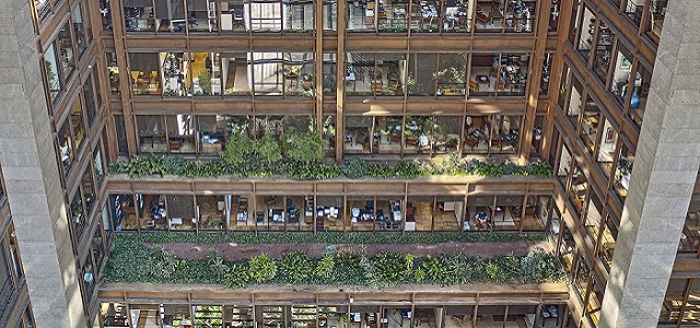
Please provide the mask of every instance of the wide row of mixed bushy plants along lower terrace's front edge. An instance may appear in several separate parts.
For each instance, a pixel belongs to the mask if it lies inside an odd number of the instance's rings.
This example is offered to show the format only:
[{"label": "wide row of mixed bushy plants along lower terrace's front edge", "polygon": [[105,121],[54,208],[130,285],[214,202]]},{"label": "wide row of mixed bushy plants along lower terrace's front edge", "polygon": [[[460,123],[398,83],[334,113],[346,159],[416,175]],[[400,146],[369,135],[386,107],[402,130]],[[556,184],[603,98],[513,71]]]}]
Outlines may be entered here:
[{"label": "wide row of mixed bushy plants along lower terrace's front edge", "polygon": [[[565,277],[557,259],[536,248],[527,256],[467,257],[463,253],[416,258],[398,253],[368,256],[327,249],[319,258],[304,251],[271,259],[267,254],[224,261],[215,251],[207,259],[183,259],[162,247],[117,238],[105,267],[104,282],[221,283],[240,289],[250,283],[343,284],[385,289],[397,284],[541,283]],[[166,269],[163,269],[166,268]],[[225,273],[222,273],[225,272]]]}]

